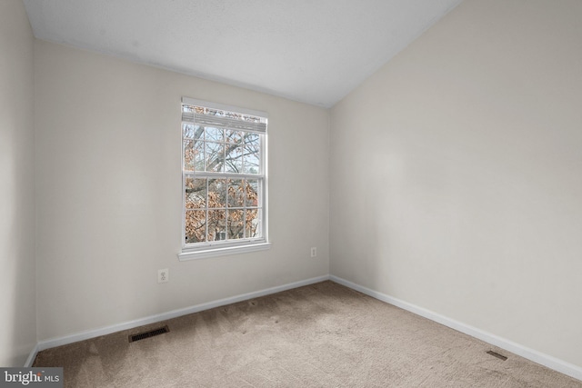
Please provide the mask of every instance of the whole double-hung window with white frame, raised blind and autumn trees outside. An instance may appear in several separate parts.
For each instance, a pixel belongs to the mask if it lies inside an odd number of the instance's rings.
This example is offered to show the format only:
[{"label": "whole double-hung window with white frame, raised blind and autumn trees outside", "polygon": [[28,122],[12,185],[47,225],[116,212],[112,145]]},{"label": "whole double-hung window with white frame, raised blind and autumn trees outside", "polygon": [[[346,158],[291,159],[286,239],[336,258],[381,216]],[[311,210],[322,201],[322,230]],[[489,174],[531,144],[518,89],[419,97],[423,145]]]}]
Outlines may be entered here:
[{"label": "whole double-hung window with white frame, raised blind and autumn trees outside", "polygon": [[182,99],[180,260],[268,248],[266,114]]}]

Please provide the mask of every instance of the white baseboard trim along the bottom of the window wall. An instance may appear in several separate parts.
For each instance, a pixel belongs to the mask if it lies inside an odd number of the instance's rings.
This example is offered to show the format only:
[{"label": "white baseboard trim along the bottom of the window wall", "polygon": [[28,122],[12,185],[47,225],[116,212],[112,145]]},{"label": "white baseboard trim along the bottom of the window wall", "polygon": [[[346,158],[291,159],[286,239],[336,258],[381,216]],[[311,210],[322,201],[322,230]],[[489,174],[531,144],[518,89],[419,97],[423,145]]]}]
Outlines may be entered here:
[{"label": "white baseboard trim along the bottom of the window wall", "polygon": [[[299,282],[278,285],[276,287],[266,288],[264,290],[259,290],[252,293],[243,293],[225,299],[219,299],[213,302],[196,304],[194,306],[186,307],[183,309],[173,310],[166,313],[159,313],[156,315],[150,315],[145,318],[136,319],[134,321],[112,324],[110,326],[105,326],[99,329],[87,330],[85,332],[65,335],[64,337],[51,338],[37,343],[35,350],[33,352],[36,354],[38,352],[44,351],[45,349],[53,348],[56,346],[62,346],[68,343],[76,343],[78,341],[88,340],[89,338],[95,338],[100,335],[116,333],[122,330],[133,329],[135,327],[143,326],[150,323],[166,321],[168,319],[176,318],[178,316],[186,315],[188,313],[198,313],[215,307],[224,306],[226,304],[242,302],[248,299],[257,298],[259,296],[265,296],[271,293],[280,293],[282,291],[291,290],[293,288],[302,287],[304,285],[316,284],[326,280],[329,280],[329,275],[318,276],[311,279],[302,280]],[[32,360],[34,361],[35,354],[33,355],[33,353],[31,353],[29,359],[32,357]],[[33,361],[31,361],[31,363]],[[28,361],[26,361],[26,363],[28,363]]]}]

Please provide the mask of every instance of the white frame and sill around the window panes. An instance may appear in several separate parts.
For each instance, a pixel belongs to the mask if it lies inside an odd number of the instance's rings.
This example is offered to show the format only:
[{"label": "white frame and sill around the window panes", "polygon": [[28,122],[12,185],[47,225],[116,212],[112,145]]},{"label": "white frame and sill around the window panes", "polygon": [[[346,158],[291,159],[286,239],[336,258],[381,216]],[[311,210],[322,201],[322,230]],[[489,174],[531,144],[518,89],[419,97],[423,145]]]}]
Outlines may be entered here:
[{"label": "white frame and sill around the window panes", "polygon": [[[249,114],[253,116],[258,116],[265,118],[267,121],[268,115],[265,112],[260,112],[256,110],[241,108],[237,106],[231,106],[226,104],[216,104],[207,101],[196,100],[194,98],[182,97],[182,102],[180,104],[180,114],[182,114],[182,105],[195,105],[206,107],[210,109],[216,109],[220,111],[233,112],[236,114]],[[270,243],[268,241],[268,216],[267,216],[267,204],[268,204],[268,184],[267,184],[267,139],[266,131],[260,134],[261,139],[261,154],[260,157],[260,171],[263,174],[248,175],[248,174],[236,174],[236,173],[207,173],[207,172],[191,172],[186,171],[185,168],[185,155],[184,155],[184,133],[182,129],[182,123],[186,123],[184,116],[180,124],[180,146],[182,149],[180,163],[182,165],[182,251],[178,254],[180,261],[192,260],[192,259],[203,259],[207,257],[223,256],[226,254],[244,254],[248,252],[262,251],[270,248]],[[222,241],[213,241],[205,243],[195,243],[186,244],[186,176],[200,176],[200,177],[222,177],[222,178],[252,178],[259,180],[259,201],[261,203],[261,236],[254,238],[243,238],[243,239],[231,239]],[[261,184],[262,183],[262,184]]]}]

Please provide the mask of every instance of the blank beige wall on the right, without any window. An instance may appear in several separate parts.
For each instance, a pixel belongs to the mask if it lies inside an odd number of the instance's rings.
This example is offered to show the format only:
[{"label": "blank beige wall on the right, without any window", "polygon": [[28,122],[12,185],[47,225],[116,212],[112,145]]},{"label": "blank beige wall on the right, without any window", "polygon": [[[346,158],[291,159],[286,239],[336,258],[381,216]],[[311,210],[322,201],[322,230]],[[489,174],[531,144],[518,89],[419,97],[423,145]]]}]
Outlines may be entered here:
[{"label": "blank beige wall on the right, without any window", "polygon": [[582,366],[582,2],[467,0],[331,114],[331,274]]}]

